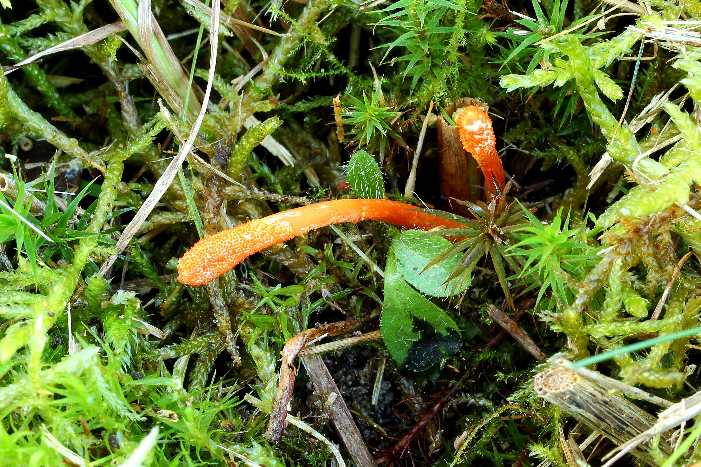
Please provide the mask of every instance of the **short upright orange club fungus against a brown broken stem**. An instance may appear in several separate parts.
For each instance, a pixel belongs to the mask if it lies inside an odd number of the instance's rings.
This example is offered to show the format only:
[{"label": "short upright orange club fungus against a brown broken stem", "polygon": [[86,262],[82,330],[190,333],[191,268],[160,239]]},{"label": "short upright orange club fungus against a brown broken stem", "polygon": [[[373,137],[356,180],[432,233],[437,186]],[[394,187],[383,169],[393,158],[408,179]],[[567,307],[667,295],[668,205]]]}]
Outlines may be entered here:
[{"label": "short upright orange club fungus against a brown broken stem", "polygon": [[504,189],[504,167],[496,153],[496,137],[491,126],[491,118],[477,106],[465,107],[455,121],[458,125],[463,148],[475,158],[484,173],[487,188],[493,189],[494,182],[499,190]]}]

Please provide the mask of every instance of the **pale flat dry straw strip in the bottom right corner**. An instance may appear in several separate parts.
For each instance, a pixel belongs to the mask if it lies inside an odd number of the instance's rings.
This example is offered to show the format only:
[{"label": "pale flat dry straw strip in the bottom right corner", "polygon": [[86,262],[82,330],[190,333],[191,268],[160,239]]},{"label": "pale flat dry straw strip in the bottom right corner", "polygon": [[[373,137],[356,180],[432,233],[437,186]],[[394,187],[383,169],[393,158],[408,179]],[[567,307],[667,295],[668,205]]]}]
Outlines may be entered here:
[{"label": "pale flat dry straw strip in the bottom right corner", "polygon": [[[701,414],[701,391],[689,396],[688,398],[682,399],[678,403],[672,405],[672,407],[669,407],[667,410],[660,412],[658,414],[658,421],[648,430],[640,433],[630,440],[627,440],[626,442],[619,443],[618,447],[606,454],[602,460],[608,459],[609,456],[616,452],[618,452],[618,454],[611,457],[611,459],[609,459],[601,467],[610,467],[615,461],[618,461],[618,459],[620,459],[622,456],[628,454],[628,452],[632,451],[633,454],[635,454],[636,451],[634,449],[636,449],[642,442],[651,440],[656,435],[662,435],[662,433],[666,433],[675,426],[681,425],[687,420],[693,419],[693,417],[696,417],[698,414]],[[664,436],[665,435],[662,435],[662,437]],[[661,446],[662,443],[660,442],[660,447]]]}]

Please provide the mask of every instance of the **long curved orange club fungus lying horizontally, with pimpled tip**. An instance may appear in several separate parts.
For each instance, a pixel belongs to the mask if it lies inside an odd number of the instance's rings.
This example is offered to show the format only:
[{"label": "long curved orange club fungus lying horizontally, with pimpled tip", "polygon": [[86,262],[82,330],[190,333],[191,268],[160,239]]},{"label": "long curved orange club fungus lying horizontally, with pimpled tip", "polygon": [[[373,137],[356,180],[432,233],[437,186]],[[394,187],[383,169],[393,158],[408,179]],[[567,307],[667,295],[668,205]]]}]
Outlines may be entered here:
[{"label": "long curved orange club fungus lying horizontally, with pimpled tip", "polygon": [[178,280],[200,286],[221,276],[253,253],[327,225],[385,221],[410,229],[465,228],[416,206],[390,200],[334,200],[308,204],[254,219],[197,242],[178,261]]}]

